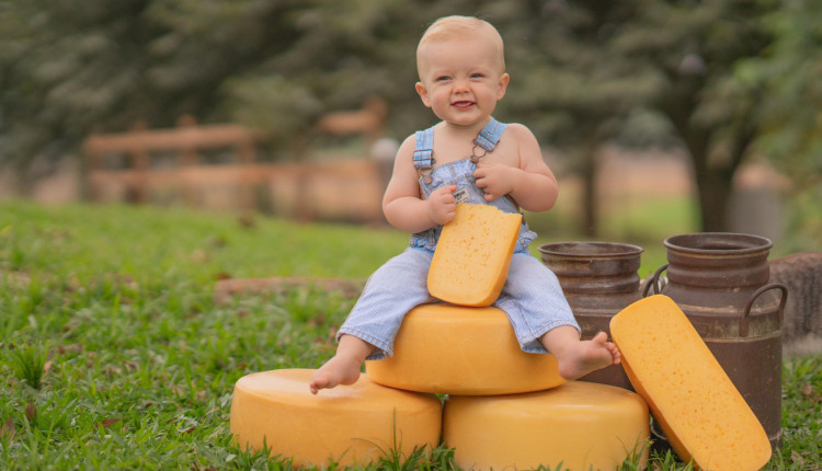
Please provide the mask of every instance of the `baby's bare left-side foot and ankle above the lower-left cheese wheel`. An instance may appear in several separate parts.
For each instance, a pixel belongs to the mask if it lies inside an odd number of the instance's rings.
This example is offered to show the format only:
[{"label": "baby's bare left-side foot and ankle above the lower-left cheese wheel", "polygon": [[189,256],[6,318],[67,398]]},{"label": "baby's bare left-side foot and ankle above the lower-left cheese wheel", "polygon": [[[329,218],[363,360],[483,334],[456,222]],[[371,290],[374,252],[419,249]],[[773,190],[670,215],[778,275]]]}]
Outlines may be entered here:
[{"label": "baby's bare left-side foot and ankle above the lower-left cheese wheel", "polygon": [[317,370],[308,387],[312,394],[339,384],[353,384],[359,378],[359,368],[374,351],[374,345],[353,335],[340,337],[336,354]]}]

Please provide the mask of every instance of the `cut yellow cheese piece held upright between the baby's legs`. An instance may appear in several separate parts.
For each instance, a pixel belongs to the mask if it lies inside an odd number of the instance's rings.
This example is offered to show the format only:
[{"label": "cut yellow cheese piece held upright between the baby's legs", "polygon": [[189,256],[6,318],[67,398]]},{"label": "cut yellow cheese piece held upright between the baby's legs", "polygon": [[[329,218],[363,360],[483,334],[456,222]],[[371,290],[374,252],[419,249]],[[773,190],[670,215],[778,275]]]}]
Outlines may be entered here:
[{"label": "cut yellow cheese piece held upright between the baby's legs", "polygon": [[429,292],[455,305],[491,306],[505,284],[522,219],[489,205],[458,204],[434,251]]}]

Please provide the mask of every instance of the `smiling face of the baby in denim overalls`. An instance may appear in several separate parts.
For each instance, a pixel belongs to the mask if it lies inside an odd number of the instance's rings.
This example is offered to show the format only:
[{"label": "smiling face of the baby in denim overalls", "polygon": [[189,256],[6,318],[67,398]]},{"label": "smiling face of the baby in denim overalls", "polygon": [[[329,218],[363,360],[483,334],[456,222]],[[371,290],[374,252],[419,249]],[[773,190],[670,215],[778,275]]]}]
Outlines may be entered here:
[{"label": "smiling face of the baby in denim overalls", "polygon": [[490,38],[466,37],[420,46],[416,91],[441,119],[472,126],[491,115],[505,94],[509,76]]}]

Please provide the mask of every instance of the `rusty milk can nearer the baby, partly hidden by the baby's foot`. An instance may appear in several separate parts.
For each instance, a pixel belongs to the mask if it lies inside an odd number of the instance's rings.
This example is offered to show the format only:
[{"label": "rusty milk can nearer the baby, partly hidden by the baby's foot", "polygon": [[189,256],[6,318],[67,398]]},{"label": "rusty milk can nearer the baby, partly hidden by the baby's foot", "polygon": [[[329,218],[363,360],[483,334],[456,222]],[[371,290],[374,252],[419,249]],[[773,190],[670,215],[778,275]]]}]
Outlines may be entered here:
[{"label": "rusty milk can nearer the baby, partly hidden by the baby's foot", "polygon": [[[558,242],[539,246],[540,257],[559,278],[562,292],[582,330],[610,336],[610,318],[642,298],[637,274],[642,248],[613,242]],[[580,378],[633,390],[620,365]]]}]

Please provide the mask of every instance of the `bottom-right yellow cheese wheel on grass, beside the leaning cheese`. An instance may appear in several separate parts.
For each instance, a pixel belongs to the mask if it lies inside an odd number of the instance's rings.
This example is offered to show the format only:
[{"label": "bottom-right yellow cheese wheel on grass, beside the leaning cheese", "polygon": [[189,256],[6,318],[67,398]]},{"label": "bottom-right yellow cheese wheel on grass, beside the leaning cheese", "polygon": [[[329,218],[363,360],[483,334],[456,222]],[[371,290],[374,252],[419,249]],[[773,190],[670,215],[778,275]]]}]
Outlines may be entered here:
[{"label": "bottom-right yellow cheese wheel on grass, beside the leaning cheese", "polygon": [[443,441],[461,469],[614,470],[648,457],[648,406],[608,384],[568,381],[539,392],[448,397]]}]

